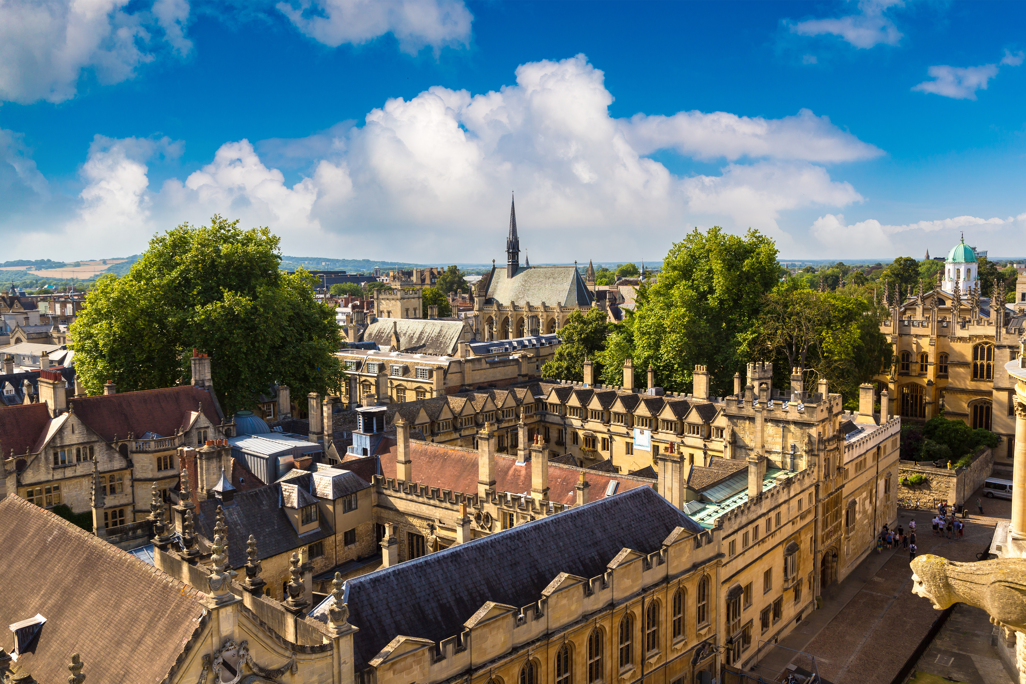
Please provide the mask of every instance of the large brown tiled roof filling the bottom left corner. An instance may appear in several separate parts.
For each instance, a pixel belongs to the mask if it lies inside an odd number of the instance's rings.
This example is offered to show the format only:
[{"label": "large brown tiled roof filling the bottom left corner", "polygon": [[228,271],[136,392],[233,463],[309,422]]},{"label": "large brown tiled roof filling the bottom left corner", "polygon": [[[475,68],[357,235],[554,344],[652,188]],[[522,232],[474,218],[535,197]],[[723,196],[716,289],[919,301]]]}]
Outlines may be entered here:
[{"label": "large brown tiled roof filling the bottom left corner", "polygon": [[0,520],[0,623],[46,618],[18,670],[63,682],[78,652],[90,682],[167,677],[201,625],[203,594],[14,494]]}]

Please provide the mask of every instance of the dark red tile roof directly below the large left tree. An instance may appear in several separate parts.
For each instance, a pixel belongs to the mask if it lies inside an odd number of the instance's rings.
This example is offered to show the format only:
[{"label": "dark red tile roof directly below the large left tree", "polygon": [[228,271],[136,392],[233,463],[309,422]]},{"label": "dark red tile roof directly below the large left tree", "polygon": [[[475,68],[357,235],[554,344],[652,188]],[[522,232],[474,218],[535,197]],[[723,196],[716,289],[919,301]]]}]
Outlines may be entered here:
[{"label": "dark red tile roof directly below the large left tree", "polygon": [[147,432],[170,437],[187,427],[189,412],[197,410],[200,405],[210,423],[221,425],[221,416],[210,393],[191,385],[77,397],[68,403],[75,415],[108,442],[113,441],[115,435],[118,439],[126,439],[129,433],[136,438]]}]

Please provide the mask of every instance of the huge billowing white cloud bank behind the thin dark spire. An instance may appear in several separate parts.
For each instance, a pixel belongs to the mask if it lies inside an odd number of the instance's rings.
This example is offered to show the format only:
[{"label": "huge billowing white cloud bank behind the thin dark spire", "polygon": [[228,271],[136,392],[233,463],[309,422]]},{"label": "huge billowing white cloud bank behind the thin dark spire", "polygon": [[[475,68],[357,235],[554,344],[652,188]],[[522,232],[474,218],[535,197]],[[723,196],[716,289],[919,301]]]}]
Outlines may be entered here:
[{"label": "huge billowing white cloud bank behind the thin dark spire", "polygon": [[[306,138],[226,143],[160,188],[148,183],[147,160],[172,155],[172,144],[97,137],[69,239],[51,243],[78,245],[74,232],[95,246],[110,233],[137,251],[156,231],[221,213],[271,227],[291,254],[485,261],[502,256],[515,190],[521,242],[536,260],[642,258],[713,224],[754,227],[786,246],[787,212],[862,201],[823,163],[881,154],[807,111],[618,119],[611,103],[584,55],[529,63],[499,90],[432,87]],[[675,174],[647,156],[664,149],[723,165]],[[286,182],[269,160],[303,174]],[[132,225],[133,239],[121,232]]]}]

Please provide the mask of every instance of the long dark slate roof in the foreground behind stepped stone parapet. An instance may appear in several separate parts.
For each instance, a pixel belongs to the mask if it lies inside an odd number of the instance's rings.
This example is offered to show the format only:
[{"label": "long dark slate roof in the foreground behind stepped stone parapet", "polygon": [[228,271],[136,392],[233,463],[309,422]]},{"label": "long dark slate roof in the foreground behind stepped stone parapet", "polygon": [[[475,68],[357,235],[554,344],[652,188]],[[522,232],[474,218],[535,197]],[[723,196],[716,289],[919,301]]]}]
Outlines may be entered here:
[{"label": "long dark slate roof in the foreground behind stepped stone parapet", "polygon": [[[638,487],[349,579],[349,621],[360,629],[356,671],[398,635],[437,643],[462,633],[486,601],[534,603],[560,572],[600,575],[624,548],[653,553],[677,527],[702,531],[650,487]],[[324,619],[325,608],[314,616]]]}]

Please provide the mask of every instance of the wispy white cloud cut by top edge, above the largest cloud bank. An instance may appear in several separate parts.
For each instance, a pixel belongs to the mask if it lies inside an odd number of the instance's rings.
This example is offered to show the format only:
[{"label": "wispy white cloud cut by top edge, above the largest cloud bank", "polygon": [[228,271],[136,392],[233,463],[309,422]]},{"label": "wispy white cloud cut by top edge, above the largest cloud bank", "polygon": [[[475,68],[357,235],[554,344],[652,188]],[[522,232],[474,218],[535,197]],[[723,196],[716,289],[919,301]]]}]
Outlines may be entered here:
[{"label": "wispy white cloud cut by top edge, above the largest cloud bank", "polygon": [[359,45],[391,33],[401,49],[415,53],[426,45],[469,44],[474,18],[462,0],[290,0],[277,7],[325,45]]}]

